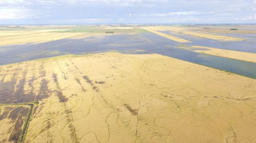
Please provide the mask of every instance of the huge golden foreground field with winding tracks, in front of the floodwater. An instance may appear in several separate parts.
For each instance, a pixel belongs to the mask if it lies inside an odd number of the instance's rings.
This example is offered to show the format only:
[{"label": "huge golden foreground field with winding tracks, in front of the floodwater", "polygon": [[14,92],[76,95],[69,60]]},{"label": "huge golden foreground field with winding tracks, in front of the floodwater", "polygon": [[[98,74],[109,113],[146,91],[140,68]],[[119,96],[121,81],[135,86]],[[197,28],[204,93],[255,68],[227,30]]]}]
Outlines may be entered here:
[{"label": "huge golden foreground field with winding tracks, in front of the floodwater", "polygon": [[39,100],[25,143],[256,140],[255,79],[158,54],[3,65],[0,81],[1,101]]}]

